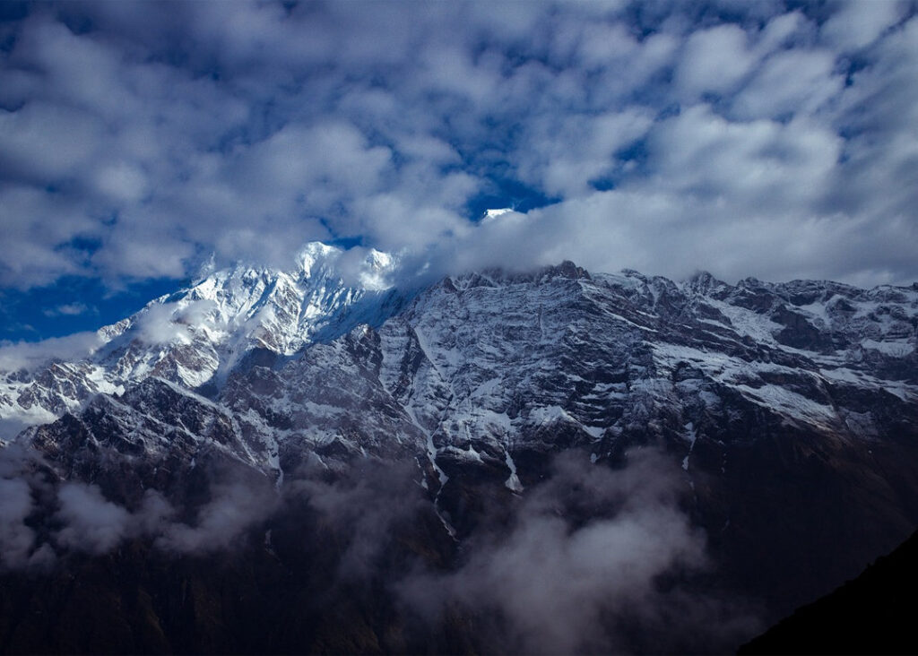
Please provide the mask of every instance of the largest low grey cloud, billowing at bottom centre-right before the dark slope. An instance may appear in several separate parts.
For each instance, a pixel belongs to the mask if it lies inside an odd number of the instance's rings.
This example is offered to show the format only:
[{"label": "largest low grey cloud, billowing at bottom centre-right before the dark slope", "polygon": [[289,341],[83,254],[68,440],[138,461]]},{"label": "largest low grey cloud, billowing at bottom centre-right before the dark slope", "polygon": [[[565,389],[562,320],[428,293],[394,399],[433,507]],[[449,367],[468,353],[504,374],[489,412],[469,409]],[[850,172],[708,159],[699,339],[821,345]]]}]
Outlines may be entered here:
[{"label": "largest low grey cloud, billowing at bottom centre-right before the dark slope", "polygon": [[[711,650],[711,640],[735,638],[754,620],[728,613],[718,625],[712,597],[658,585],[666,573],[706,566],[704,538],[678,508],[674,471],[649,451],[618,471],[563,454],[509,526],[476,536],[459,569],[401,582],[401,595],[428,621],[455,604],[490,617],[488,644],[498,650],[685,650],[690,631],[707,634],[699,645]],[[642,631],[659,641],[633,643]]]}]

